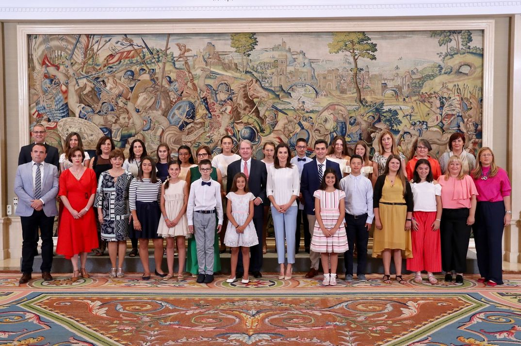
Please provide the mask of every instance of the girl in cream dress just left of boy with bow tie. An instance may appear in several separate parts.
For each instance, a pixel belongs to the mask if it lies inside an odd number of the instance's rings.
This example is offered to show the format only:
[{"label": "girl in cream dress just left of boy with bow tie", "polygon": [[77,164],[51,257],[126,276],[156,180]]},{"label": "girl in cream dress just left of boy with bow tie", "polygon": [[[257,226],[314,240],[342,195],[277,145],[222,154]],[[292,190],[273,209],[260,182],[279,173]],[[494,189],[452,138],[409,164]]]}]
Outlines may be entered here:
[{"label": "girl in cream dress just left of boy with bow tie", "polygon": [[157,235],[166,238],[166,262],[168,274],[165,280],[173,276],[173,242],[177,243],[179,253],[179,269],[177,280],[183,279],[184,261],[187,250],[185,249],[185,238],[191,237],[188,232],[187,205],[188,205],[188,184],[179,179],[181,166],[179,161],[170,161],[168,164],[169,177],[161,188],[161,213],[163,219],[159,221]]}]

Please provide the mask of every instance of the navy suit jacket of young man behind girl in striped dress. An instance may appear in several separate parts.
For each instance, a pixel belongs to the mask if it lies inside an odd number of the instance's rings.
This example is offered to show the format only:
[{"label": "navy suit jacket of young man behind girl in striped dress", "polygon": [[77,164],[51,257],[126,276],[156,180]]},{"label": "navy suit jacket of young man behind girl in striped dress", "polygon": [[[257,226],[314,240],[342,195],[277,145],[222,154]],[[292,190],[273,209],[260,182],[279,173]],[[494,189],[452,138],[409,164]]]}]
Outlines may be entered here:
[{"label": "navy suit jacket of young man behind girl in striped dress", "polygon": [[[340,165],[331,160],[326,160],[326,168],[324,169],[324,172],[326,172],[328,168],[334,169],[337,173],[337,182],[340,183],[340,179],[342,178]],[[315,198],[313,197],[313,194],[319,187],[320,178],[318,176],[317,160],[313,159],[313,161],[304,164],[300,178],[300,191],[302,197],[304,197],[304,210],[308,215],[315,214]]]}]

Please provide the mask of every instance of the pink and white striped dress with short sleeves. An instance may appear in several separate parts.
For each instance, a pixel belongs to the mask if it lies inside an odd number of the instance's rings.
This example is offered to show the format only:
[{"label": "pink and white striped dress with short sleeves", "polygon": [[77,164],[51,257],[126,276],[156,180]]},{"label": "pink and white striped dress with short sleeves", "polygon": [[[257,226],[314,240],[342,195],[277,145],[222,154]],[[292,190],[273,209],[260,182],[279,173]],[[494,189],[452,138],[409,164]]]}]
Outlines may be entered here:
[{"label": "pink and white striped dress with short sleeves", "polygon": [[[340,217],[340,199],[345,198],[345,192],[342,190],[334,190],[326,192],[324,190],[316,190],[313,194],[315,198],[320,200],[320,217],[324,227],[333,228]],[[311,251],[342,253],[348,251],[348,236],[345,233],[344,223],[340,225],[337,232],[331,237],[326,237],[318,221],[315,222],[313,230],[313,238],[311,239]]]}]

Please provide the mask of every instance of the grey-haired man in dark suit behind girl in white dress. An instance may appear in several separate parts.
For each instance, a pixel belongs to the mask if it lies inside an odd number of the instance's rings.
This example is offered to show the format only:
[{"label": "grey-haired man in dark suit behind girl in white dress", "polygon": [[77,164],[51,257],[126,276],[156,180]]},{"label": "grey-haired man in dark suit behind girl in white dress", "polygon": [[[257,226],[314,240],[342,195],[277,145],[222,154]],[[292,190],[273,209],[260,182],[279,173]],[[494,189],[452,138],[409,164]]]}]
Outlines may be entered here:
[{"label": "grey-haired man in dark suit behind girl in white dress", "polygon": [[[262,227],[263,227],[263,201],[266,197],[266,180],[268,173],[266,164],[252,158],[253,145],[249,140],[243,140],[239,144],[240,160],[234,161],[228,165],[228,180],[226,183],[226,192],[229,193],[233,183],[233,177],[237,173],[244,173],[247,177],[248,188],[256,198],[253,200],[253,224],[257,231],[259,244],[250,248],[251,260],[250,271],[255,278],[261,278],[261,267],[263,261],[262,255]],[[239,252],[239,261],[237,263],[237,277],[241,277],[243,272],[241,252]]]}]

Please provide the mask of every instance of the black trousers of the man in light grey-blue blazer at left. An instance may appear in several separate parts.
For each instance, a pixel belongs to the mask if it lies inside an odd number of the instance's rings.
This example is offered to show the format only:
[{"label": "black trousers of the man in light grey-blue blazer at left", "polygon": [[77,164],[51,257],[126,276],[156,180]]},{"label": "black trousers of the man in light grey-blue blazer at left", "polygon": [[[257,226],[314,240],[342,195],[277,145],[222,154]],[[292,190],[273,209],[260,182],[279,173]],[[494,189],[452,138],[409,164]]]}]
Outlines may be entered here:
[{"label": "black trousers of the man in light grey-blue blazer at left", "polygon": [[22,273],[32,273],[34,254],[38,247],[38,229],[42,237],[42,272],[51,272],[53,265],[53,225],[54,216],[46,216],[43,210],[34,211],[31,216],[20,216],[22,225]]}]

